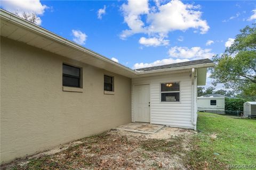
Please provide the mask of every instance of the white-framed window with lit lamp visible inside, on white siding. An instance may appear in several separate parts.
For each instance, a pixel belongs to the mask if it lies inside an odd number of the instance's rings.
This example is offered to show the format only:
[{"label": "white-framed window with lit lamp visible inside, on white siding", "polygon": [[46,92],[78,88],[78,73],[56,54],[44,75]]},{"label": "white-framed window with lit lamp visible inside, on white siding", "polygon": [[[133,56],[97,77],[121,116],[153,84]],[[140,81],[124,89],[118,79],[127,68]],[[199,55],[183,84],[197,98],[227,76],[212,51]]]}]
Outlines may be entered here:
[{"label": "white-framed window with lit lamp visible inside, on white siding", "polygon": [[180,83],[179,82],[161,83],[161,101],[179,102],[180,101]]}]

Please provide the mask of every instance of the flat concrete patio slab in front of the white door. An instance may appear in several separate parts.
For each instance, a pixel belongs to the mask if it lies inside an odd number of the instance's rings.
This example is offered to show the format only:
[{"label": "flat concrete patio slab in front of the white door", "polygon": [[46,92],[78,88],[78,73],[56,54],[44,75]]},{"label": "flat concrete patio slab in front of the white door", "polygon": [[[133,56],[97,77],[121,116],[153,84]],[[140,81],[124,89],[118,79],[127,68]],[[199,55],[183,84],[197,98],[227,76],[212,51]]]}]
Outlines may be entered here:
[{"label": "flat concrete patio slab in front of the white door", "polygon": [[153,134],[159,131],[160,129],[162,129],[163,127],[164,125],[134,122],[134,123],[117,126],[116,128],[114,128],[114,130]]}]

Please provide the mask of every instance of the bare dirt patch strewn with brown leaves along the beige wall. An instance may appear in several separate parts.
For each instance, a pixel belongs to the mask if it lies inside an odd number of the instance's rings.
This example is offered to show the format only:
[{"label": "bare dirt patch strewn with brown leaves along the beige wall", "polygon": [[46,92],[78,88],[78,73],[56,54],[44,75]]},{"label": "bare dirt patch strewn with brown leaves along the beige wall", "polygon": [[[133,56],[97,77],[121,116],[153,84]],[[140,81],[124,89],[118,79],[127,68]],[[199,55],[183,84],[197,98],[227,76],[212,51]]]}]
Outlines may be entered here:
[{"label": "bare dirt patch strewn with brown leaves along the beige wall", "polygon": [[2,169],[187,169],[193,131],[165,127],[155,134],[109,131],[3,165]]}]

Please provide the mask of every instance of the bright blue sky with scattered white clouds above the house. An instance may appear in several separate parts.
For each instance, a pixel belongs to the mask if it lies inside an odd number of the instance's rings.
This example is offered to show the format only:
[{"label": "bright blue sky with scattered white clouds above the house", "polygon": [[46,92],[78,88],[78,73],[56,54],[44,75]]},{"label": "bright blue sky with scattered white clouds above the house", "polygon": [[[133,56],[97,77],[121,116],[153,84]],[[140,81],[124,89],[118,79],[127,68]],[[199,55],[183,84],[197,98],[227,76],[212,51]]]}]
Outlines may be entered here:
[{"label": "bright blue sky with scattered white clouds above the house", "polygon": [[41,27],[133,69],[211,58],[256,21],[254,1],[15,0],[1,7],[34,12]]}]

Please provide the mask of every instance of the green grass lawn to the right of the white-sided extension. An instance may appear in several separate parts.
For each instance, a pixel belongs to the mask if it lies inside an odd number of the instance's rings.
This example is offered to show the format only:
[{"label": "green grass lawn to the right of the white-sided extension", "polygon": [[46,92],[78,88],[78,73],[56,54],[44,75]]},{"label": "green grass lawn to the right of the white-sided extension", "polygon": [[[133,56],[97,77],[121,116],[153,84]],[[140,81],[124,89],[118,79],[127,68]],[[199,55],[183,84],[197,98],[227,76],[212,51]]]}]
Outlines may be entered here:
[{"label": "green grass lawn to the right of the white-sided extension", "polygon": [[188,154],[191,169],[256,164],[256,120],[199,113],[197,130]]}]

